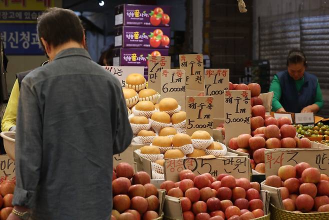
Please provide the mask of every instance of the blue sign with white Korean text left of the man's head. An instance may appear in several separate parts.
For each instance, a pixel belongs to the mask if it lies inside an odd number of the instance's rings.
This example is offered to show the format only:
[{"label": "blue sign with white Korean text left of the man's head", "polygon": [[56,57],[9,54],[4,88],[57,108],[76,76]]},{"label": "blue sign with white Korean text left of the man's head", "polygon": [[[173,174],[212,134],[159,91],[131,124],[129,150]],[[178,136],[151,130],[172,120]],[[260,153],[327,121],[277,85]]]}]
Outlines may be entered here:
[{"label": "blue sign with white Korean text left of the man's head", "polygon": [[0,37],[7,55],[43,55],[35,23],[0,23]]}]

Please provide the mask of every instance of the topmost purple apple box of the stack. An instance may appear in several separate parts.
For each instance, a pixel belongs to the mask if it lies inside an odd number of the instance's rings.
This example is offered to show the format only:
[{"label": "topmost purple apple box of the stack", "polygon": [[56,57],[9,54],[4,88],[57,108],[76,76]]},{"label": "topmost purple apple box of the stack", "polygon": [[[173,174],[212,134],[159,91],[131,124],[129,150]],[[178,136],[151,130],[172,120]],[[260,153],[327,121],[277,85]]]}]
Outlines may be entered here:
[{"label": "topmost purple apple box of the stack", "polygon": [[170,26],[170,6],[120,4],[115,7],[115,26]]}]

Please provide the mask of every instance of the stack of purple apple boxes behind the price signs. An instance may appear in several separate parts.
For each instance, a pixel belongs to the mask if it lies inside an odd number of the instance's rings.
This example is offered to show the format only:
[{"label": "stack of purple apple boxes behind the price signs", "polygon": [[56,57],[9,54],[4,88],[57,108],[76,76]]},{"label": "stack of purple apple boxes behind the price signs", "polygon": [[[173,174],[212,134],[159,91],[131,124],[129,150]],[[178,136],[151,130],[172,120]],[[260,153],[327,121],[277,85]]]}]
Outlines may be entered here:
[{"label": "stack of purple apple boxes behind the price signs", "polygon": [[144,66],[149,56],[168,55],[170,6],[120,4],[115,7],[113,65]]}]

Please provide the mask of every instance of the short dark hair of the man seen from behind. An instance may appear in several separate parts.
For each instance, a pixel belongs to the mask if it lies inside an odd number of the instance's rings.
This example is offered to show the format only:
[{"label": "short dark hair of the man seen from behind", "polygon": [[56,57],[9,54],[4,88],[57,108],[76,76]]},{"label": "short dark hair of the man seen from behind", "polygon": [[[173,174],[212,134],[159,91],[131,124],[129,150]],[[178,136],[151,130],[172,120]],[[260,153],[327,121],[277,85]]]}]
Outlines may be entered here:
[{"label": "short dark hair of the man seen from behind", "polygon": [[83,39],[83,26],[81,21],[79,17],[69,9],[58,7],[46,9],[38,16],[36,29],[39,39],[42,37],[54,47],[70,40],[80,43]]}]

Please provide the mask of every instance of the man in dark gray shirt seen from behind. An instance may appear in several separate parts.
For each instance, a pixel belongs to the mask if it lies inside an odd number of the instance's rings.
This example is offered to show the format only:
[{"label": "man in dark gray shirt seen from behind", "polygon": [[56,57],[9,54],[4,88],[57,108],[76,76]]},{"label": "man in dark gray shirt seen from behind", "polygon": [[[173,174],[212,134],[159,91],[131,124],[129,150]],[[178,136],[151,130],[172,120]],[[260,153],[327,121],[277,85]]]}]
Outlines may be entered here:
[{"label": "man in dark gray shirt seen from behind", "polygon": [[108,220],[112,155],[132,138],[121,85],[90,59],[73,11],[47,9],[37,30],[51,62],[21,83],[8,219]]}]

